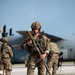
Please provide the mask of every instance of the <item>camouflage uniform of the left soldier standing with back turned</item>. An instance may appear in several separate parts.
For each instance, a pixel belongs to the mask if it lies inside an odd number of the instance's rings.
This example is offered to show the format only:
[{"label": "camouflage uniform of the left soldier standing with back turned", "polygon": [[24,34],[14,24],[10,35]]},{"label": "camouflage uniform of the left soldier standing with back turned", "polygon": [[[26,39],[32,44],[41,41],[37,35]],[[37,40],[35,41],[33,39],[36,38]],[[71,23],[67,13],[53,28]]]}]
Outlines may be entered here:
[{"label": "camouflage uniform of the left soldier standing with back turned", "polygon": [[[3,48],[2,48],[2,56],[1,56],[1,60],[2,63],[1,65],[1,69],[4,72],[4,69],[6,70],[6,75],[11,75],[11,71],[12,71],[12,65],[11,65],[11,61],[10,58],[13,57],[13,51],[11,49],[11,47],[9,47],[6,44],[2,44]],[[4,75],[4,74],[1,74]]]}]

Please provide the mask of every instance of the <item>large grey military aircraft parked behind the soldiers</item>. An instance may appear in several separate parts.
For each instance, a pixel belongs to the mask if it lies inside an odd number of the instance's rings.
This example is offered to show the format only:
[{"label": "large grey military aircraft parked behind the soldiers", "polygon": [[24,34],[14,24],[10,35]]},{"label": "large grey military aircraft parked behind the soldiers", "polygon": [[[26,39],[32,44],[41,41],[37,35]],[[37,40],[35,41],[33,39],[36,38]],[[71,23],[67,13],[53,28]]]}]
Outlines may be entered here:
[{"label": "large grey military aircraft parked behind the soldiers", "polygon": [[[7,36],[9,39],[9,45],[19,45],[25,38],[26,31],[16,31],[19,35],[12,34],[12,28],[9,30],[9,36],[6,32],[6,25],[3,27],[2,36]],[[59,45],[59,49],[63,52],[63,60],[65,61],[75,61],[75,35],[68,36],[66,38],[60,38],[54,35],[44,33],[51,41]],[[23,63],[28,57],[28,52],[21,48],[13,48],[14,57],[12,58],[12,63]]]}]

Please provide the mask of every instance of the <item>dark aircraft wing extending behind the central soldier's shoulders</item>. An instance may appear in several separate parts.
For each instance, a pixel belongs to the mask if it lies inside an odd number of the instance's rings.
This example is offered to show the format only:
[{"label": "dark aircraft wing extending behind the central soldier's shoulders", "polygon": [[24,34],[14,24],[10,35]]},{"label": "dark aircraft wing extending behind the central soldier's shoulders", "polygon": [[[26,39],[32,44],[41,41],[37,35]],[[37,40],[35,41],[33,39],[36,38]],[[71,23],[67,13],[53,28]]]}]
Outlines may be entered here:
[{"label": "dark aircraft wing extending behind the central soldier's shoulders", "polygon": [[[26,33],[26,31],[16,31],[16,32],[21,34],[21,35],[23,35],[23,36],[25,36],[25,33]],[[50,38],[51,41],[53,41],[53,42],[57,42],[57,41],[63,40],[63,38],[60,38],[60,37],[57,37],[57,36],[54,36],[54,35],[50,35],[48,33],[43,33],[43,34],[45,36],[47,36],[48,38]]]}]

